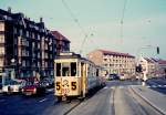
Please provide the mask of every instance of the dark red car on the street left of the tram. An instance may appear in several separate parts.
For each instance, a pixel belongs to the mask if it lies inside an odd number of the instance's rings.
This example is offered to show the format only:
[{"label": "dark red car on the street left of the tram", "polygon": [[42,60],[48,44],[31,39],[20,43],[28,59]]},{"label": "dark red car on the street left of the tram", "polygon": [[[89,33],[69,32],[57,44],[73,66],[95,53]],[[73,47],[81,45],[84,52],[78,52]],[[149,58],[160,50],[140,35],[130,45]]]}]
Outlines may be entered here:
[{"label": "dark red car on the street left of the tram", "polygon": [[27,85],[22,87],[22,94],[27,96],[45,94],[45,85],[42,82],[27,82]]}]

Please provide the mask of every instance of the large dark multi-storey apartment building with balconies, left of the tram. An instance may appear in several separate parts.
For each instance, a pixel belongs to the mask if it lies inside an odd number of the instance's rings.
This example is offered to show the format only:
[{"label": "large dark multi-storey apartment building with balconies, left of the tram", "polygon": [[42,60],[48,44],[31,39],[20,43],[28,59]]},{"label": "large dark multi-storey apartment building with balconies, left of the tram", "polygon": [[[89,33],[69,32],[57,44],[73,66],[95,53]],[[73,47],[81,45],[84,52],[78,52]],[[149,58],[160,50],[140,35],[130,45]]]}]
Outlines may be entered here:
[{"label": "large dark multi-storey apartment building with balconies, left of the tram", "polygon": [[[59,52],[58,44],[62,41],[45,28],[42,18],[39,22],[34,22],[23,13],[0,9],[1,71],[6,73],[13,71],[17,77],[53,77],[53,61]],[[69,50],[70,41],[68,46],[63,43],[61,49],[63,46]]]}]

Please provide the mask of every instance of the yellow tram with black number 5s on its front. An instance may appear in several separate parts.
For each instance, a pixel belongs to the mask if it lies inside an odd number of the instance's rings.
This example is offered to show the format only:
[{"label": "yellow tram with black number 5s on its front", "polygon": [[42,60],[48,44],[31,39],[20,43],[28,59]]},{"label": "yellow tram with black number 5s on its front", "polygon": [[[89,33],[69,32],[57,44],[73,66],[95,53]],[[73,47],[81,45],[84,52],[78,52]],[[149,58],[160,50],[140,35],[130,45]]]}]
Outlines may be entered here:
[{"label": "yellow tram with black number 5s on its front", "polygon": [[85,97],[90,90],[103,84],[102,67],[73,52],[63,52],[54,60],[55,96],[59,101]]}]

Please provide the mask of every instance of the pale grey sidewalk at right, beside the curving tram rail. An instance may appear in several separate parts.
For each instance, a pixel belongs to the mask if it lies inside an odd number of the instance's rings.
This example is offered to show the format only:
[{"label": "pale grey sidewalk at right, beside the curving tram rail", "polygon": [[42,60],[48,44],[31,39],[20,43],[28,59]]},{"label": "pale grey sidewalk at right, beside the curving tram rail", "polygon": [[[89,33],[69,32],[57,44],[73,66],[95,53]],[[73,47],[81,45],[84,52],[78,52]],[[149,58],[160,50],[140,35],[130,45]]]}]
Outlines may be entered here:
[{"label": "pale grey sidewalk at right, beside the curving tram rail", "polygon": [[166,95],[146,86],[132,86],[145,101],[166,115]]}]

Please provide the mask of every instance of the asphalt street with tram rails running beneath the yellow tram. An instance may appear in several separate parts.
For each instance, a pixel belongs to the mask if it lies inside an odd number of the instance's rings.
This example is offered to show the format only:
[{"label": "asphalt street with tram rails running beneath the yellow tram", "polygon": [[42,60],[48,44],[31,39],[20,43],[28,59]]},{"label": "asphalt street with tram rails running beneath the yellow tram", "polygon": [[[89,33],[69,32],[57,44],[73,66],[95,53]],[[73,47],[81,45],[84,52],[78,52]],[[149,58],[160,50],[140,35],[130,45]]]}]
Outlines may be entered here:
[{"label": "asphalt street with tram rails running beneath the yellow tram", "polygon": [[[58,103],[53,91],[39,97],[0,94],[1,115],[162,115],[133,90],[137,81],[108,81],[83,102]],[[148,88],[148,87],[147,87]],[[148,88],[149,90],[149,88]]]}]

